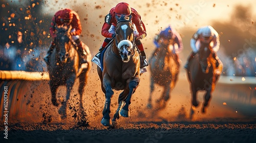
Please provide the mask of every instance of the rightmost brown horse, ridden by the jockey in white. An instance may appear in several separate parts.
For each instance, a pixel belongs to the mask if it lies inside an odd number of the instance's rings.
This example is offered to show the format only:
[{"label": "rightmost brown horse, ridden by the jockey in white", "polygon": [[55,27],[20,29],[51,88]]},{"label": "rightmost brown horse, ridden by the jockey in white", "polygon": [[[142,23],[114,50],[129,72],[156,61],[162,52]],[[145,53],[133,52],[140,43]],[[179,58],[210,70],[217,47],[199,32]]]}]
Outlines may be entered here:
[{"label": "rightmost brown horse, ridden by the jockey in white", "polygon": [[[194,107],[198,106],[197,91],[205,90],[204,103],[202,112],[206,112],[206,107],[211,98],[211,93],[214,91],[220,75],[214,72],[216,68],[216,59],[212,57],[212,47],[208,43],[200,42],[199,51],[196,56],[188,64],[187,75],[190,82],[192,92],[191,116],[193,115]],[[220,61],[219,61],[220,62]],[[222,70],[222,63],[219,68]]]}]

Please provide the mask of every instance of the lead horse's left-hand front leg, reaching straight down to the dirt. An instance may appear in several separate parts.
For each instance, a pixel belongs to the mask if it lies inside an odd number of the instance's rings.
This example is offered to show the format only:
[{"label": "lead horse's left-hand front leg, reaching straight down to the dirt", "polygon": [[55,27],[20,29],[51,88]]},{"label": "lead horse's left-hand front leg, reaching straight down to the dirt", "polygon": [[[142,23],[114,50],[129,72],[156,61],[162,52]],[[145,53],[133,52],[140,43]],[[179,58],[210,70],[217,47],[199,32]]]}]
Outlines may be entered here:
[{"label": "lead horse's left-hand front leg, reaching straight down to the dirt", "polygon": [[111,118],[110,118],[110,104],[111,104],[111,98],[114,94],[114,91],[112,90],[111,87],[111,82],[109,76],[104,76],[103,77],[103,86],[105,89],[105,105],[102,111],[103,117],[101,120],[101,124],[104,126],[111,126]]}]

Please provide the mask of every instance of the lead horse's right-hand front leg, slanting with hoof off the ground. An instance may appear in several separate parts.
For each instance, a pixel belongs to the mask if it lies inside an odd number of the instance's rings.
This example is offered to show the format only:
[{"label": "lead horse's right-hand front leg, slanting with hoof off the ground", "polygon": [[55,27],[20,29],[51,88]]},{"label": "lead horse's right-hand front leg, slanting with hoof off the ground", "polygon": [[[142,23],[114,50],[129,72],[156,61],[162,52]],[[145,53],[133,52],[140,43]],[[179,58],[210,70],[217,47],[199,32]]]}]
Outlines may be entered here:
[{"label": "lead horse's right-hand front leg, slanting with hoof off the ground", "polygon": [[138,82],[137,81],[130,81],[129,83],[129,94],[127,96],[127,99],[125,100],[125,105],[123,106],[120,114],[121,116],[124,117],[129,117],[130,116],[130,110],[129,110],[129,105],[131,104],[131,99],[132,99],[132,94],[134,92],[134,90],[136,89],[136,87],[138,86]]}]

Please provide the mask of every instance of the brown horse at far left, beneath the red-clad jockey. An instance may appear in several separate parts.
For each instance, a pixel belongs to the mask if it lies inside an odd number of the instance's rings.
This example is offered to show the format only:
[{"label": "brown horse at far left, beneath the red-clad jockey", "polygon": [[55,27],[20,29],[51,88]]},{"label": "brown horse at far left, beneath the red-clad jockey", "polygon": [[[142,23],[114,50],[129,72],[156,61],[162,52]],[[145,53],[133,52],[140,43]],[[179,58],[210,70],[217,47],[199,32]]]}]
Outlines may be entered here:
[{"label": "brown horse at far left, beneath the red-clad jockey", "polygon": [[[91,69],[91,61],[84,63],[85,68],[79,69],[79,56],[76,46],[72,43],[69,30],[60,29],[57,33],[55,49],[50,57],[48,71],[50,76],[50,88],[52,93],[52,103],[58,106],[56,99],[56,90],[60,85],[66,85],[66,99],[61,101],[62,106],[59,109],[61,118],[66,117],[67,101],[70,98],[70,92],[77,77],[79,77],[80,106],[82,107],[82,94],[87,83],[88,73]],[[90,53],[89,53],[90,54]]]}]

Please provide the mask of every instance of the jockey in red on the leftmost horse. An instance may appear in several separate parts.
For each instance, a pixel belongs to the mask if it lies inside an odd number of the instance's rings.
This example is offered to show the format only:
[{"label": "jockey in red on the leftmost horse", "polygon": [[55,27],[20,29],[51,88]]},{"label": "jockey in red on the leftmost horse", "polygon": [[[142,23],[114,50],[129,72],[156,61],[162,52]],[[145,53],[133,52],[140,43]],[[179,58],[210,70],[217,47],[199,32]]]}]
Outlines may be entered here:
[{"label": "jockey in red on the leftmost horse", "polygon": [[81,22],[80,22],[80,18],[78,16],[78,14],[71,10],[71,9],[62,9],[57,11],[53,18],[52,18],[52,22],[51,22],[51,27],[50,27],[50,35],[53,38],[47,55],[45,56],[44,60],[46,61],[47,64],[49,64],[49,60],[50,60],[50,55],[54,49],[54,45],[55,45],[55,38],[56,38],[56,33],[58,32],[57,28],[58,26],[71,26],[72,30],[70,31],[70,34],[72,35],[72,40],[75,41],[75,43],[77,44],[76,46],[78,46],[78,55],[80,56],[80,58],[82,59],[82,63],[86,62],[86,50],[84,49],[84,47],[82,46],[82,42],[79,40],[79,35],[82,32],[82,27],[81,27]]}]

